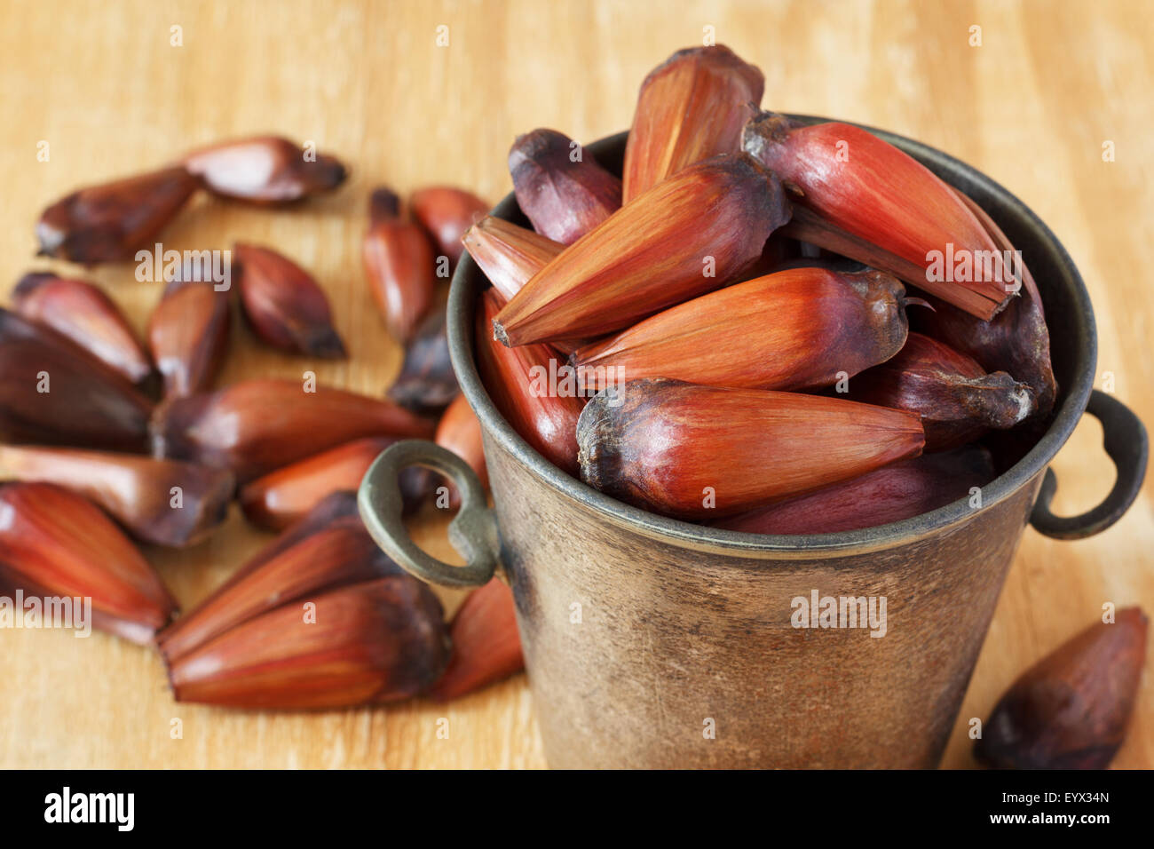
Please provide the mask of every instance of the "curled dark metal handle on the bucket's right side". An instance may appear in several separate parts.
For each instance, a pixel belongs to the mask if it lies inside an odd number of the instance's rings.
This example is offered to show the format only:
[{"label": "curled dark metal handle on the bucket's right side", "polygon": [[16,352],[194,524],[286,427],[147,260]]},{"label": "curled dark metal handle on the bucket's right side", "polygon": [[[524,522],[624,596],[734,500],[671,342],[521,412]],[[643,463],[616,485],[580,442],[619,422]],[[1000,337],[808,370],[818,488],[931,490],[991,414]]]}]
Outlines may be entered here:
[{"label": "curled dark metal handle on the bucket's right side", "polygon": [[1082,539],[1100,534],[1122,519],[1142,487],[1149,442],[1146,429],[1129,407],[1104,392],[1095,389],[1086,412],[1102,423],[1102,445],[1118,474],[1110,494],[1097,507],[1080,516],[1057,516],[1050,512],[1058,479],[1052,469],[1046,470],[1029,523],[1056,539]]}]

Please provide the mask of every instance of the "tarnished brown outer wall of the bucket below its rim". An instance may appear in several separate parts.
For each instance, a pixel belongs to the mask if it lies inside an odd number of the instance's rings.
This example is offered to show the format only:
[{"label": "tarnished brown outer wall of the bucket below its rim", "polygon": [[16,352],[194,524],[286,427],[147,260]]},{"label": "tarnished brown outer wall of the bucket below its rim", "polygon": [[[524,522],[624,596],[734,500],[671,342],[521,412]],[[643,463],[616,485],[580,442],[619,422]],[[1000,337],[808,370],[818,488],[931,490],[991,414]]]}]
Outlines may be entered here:
[{"label": "tarnished brown outer wall of the bucket below its rim", "polygon": [[[726,556],[609,524],[490,440],[486,456],[555,767],[935,766],[1037,490],[907,545]],[[814,590],[884,596],[884,635],[793,627]]]}]

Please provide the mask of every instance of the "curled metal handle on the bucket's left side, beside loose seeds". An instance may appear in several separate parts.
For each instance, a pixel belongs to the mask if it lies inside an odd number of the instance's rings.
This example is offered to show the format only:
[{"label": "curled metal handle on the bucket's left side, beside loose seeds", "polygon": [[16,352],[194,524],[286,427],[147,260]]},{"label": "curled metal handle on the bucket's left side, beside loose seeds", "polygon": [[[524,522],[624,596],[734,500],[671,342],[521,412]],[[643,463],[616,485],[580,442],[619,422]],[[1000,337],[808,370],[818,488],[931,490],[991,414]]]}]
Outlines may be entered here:
[{"label": "curled metal handle on the bucket's left side, beside loose seeds", "polygon": [[[450,478],[460,493],[460,511],[449,524],[449,542],[466,566],[437,560],[412,541],[402,521],[398,478],[410,466],[422,466]],[[485,500],[485,487],[469,464],[452,452],[424,439],[406,439],[385,448],[365,472],[357,506],[369,535],[406,572],[444,587],[479,587],[497,568],[497,522]]]}]

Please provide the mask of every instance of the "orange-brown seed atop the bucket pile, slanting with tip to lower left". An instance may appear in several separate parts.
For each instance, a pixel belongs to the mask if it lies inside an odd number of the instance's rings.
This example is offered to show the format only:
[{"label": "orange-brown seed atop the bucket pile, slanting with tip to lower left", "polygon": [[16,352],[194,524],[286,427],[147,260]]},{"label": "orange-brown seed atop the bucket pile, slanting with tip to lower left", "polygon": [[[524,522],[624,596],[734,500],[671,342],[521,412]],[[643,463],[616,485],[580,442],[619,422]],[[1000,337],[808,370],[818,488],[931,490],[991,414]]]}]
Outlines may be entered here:
[{"label": "orange-brown seed atop the bucket pile, slanting with tip to lower left", "polygon": [[778,178],[739,154],[691,165],[567,247],[501,310],[510,344],[620,330],[741,276],[789,217]]}]

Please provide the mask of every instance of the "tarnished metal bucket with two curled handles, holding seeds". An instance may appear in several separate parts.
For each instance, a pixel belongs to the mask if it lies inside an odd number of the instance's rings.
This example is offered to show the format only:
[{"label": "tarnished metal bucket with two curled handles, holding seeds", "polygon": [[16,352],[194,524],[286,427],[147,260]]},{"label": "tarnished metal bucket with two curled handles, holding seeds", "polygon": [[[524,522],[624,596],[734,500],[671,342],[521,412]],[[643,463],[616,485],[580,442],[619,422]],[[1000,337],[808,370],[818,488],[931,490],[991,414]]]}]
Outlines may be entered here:
[{"label": "tarnished metal bucket with two curled handles, holding seeds", "polygon": [[[797,120],[817,121],[807,117]],[[489,400],[473,363],[473,310],[486,281],[466,255],[449,297],[449,343],[480,419],[495,509],[469,467],[424,441],[369,469],[361,514],[417,576],[512,587],[545,752],[554,767],[934,767],[1027,522],[1080,538],[1126,511],[1146,468],[1146,432],[1093,390],[1096,342],[1086,289],[1047,226],[957,159],[879,131],[976,200],[1024,253],[1041,289],[1059,395],[1020,461],[961,500],[892,524],[817,536],[758,536],[664,519],[602,496],[544,460]],[[621,173],[625,134],[586,148]],[[512,195],[494,214],[525,224]],[[1082,412],[1102,422],[1117,468],[1081,516],[1050,509],[1047,464]],[[411,464],[464,493],[455,567],[424,553],[400,520],[397,475]],[[1107,474],[1103,470],[1103,474]],[[878,627],[794,627],[794,599],[886,599]],[[872,634],[872,635],[871,635]]]}]

